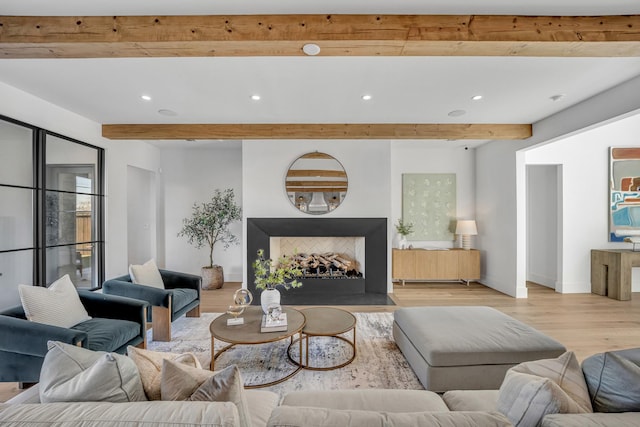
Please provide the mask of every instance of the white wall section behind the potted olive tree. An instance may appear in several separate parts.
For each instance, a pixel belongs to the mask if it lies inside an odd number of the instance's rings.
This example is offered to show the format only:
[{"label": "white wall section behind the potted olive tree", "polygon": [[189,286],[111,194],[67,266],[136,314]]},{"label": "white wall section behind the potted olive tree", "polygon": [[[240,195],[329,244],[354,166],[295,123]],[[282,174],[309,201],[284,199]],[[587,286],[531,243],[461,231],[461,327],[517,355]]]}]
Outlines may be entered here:
[{"label": "white wall section behind the potted olive tree", "polygon": [[[209,248],[196,249],[185,237],[178,237],[178,232],[182,220],[191,215],[193,204],[211,200],[215,189],[232,188],[236,202],[242,205],[242,143],[232,148],[163,148],[161,158],[166,267],[199,275],[201,267],[209,264]],[[240,222],[232,224],[230,230],[240,242],[244,240]],[[242,280],[243,259],[242,244],[227,250],[222,244],[214,248],[213,262],[223,267],[225,281]]]}]

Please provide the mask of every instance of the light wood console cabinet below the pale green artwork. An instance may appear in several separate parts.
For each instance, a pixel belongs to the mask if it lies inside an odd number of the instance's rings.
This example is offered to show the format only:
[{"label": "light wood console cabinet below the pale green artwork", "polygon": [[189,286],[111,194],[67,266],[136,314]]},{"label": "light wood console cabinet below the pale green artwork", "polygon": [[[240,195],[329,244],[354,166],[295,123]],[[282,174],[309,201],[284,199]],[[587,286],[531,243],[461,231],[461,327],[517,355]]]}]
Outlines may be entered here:
[{"label": "light wood console cabinet below the pale green artwork", "polygon": [[480,279],[480,251],[476,249],[393,249],[392,277],[404,285],[407,280]]}]

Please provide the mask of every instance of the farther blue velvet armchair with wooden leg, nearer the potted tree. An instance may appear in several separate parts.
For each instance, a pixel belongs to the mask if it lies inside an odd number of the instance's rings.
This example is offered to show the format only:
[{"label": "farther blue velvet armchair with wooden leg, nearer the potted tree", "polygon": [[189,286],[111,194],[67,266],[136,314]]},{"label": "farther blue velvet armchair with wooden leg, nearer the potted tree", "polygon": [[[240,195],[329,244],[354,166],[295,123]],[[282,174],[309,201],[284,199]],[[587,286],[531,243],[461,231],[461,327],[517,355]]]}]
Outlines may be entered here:
[{"label": "farther blue velvet armchair with wooden leg, nearer the potted tree", "polygon": [[200,317],[202,278],[194,274],[160,269],[164,289],[132,283],[130,275],[102,284],[102,292],[147,301],[151,305],[148,321],[153,341],[171,341],[171,322],[182,315]]}]

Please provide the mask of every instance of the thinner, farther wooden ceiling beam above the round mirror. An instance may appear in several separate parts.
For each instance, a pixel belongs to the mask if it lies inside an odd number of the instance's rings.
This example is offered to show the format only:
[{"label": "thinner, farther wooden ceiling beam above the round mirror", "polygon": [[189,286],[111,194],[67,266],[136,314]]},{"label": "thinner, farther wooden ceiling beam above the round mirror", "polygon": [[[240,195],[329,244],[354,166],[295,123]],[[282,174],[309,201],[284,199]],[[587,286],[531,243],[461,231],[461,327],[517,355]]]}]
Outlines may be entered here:
[{"label": "thinner, farther wooden ceiling beam above the round mirror", "polygon": [[530,124],[106,124],[109,139],[491,139],[531,136]]}]

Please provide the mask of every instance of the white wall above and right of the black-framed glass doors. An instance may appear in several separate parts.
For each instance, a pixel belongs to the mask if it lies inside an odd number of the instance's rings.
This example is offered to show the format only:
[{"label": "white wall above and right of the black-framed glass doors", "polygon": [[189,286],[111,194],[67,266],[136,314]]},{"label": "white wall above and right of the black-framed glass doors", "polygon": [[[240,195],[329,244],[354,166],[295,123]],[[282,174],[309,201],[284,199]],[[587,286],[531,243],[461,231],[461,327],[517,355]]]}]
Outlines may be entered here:
[{"label": "white wall above and right of the black-framed glass doors", "polygon": [[0,83],[0,114],[105,149],[106,277],[127,272],[127,166],[157,171],[158,149],[139,141],[110,141],[99,123]]}]

